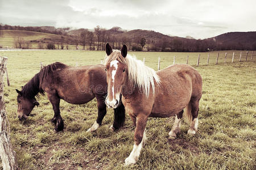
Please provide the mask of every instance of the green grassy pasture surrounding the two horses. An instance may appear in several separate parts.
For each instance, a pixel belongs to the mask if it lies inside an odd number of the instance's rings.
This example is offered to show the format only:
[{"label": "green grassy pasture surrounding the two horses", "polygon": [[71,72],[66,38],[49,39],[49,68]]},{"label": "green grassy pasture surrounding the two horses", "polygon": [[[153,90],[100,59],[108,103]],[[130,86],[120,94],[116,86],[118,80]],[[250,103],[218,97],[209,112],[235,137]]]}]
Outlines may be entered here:
[{"label": "green grassy pasture surrounding the two horses", "polygon": [[[108,113],[102,126],[93,133],[86,133],[97,117],[96,100],[84,105],[71,105],[61,101],[60,110],[65,129],[55,133],[51,123],[52,105],[46,96],[38,99],[40,106],[34,108],[26,121],[16,115],[16,92],[44,65],[60,61],[75,66],[100,63],[105,52],[82,51],[0,51],[9,57],[8,72],[11,86],[5,86],[5,103],[10,122],[11,143],[17,154],[20,169],[255,169],[256,158],[256,56],[253,61],[238,62],[240,52],[220,52],[219,64],[214,65],[218,52],[210,53],[157,53],[129,52],[139,59],[146,58],[146,65],[156,70],[158,57],[160,67],[173,63],[195,66],[203,77],[203,96],[200,100],[199,131],[187,135],[188,124],[181,125],[181,134],[168,140],[173,118],[149,118],[146,146],[137,164],[124,167],[125,158],[133,149],[134,126],[126,115],[125,126],[117,131],[109,130],[113,111]],[[249,52],[249,59],[251,52]],[[171,107],[171,106],[170,106]],[[1,165],[0,165],[1,169]]]}]

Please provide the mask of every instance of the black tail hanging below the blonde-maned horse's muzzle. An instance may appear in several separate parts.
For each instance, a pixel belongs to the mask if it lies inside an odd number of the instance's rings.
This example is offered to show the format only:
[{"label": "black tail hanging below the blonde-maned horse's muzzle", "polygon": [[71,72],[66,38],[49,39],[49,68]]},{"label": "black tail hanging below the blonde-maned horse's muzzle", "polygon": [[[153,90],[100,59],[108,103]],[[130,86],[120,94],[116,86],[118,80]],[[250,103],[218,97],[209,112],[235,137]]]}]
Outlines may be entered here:
[{"label": "black tail hanging below the blonde-maned horse's muzzle", "polygon": [[114,109],[114,123],[113,128],[117,130],[125,124],[125,106],[120,100],[120,104]]}]

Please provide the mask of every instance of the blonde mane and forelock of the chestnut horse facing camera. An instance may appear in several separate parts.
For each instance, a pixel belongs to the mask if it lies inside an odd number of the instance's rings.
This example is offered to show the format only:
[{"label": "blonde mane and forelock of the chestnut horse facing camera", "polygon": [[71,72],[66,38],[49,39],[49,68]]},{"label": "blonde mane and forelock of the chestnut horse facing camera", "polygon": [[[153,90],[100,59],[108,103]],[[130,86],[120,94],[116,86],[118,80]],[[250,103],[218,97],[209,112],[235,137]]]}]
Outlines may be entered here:
[{"label": "blonde mane and forelock of the chestnut horse facing camera", "polygon": [[141,60],[138,60],[135,56],[131,56],[130,54],[127,54],[127,56],[123,58],[119,50],[113,50],[112,54],[105,56],[105,65],[115,59],[127,65],[128,78],[132,85],[142,90],[147,97],[150,93],[151,86],[152,92],[155,94],[155,82],[156,84],[160,83],[159,76],[156,74],[155,70],[144,65]]}]

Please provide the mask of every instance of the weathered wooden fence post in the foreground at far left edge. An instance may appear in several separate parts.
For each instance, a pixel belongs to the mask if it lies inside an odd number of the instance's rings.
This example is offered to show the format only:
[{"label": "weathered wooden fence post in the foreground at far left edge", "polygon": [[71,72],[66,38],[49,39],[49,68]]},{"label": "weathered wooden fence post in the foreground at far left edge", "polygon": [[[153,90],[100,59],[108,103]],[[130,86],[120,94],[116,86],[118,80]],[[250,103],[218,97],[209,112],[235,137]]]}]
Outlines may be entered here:
[{"label": "weathered wooden fence post in the foreground at far left edge", "polygon": [[7,59],[7,57],[0,58],[0,157],[3,169],[18,169],[15,152],[7,131],[5,103],[3,101],[3,74],[5,74]]}]

